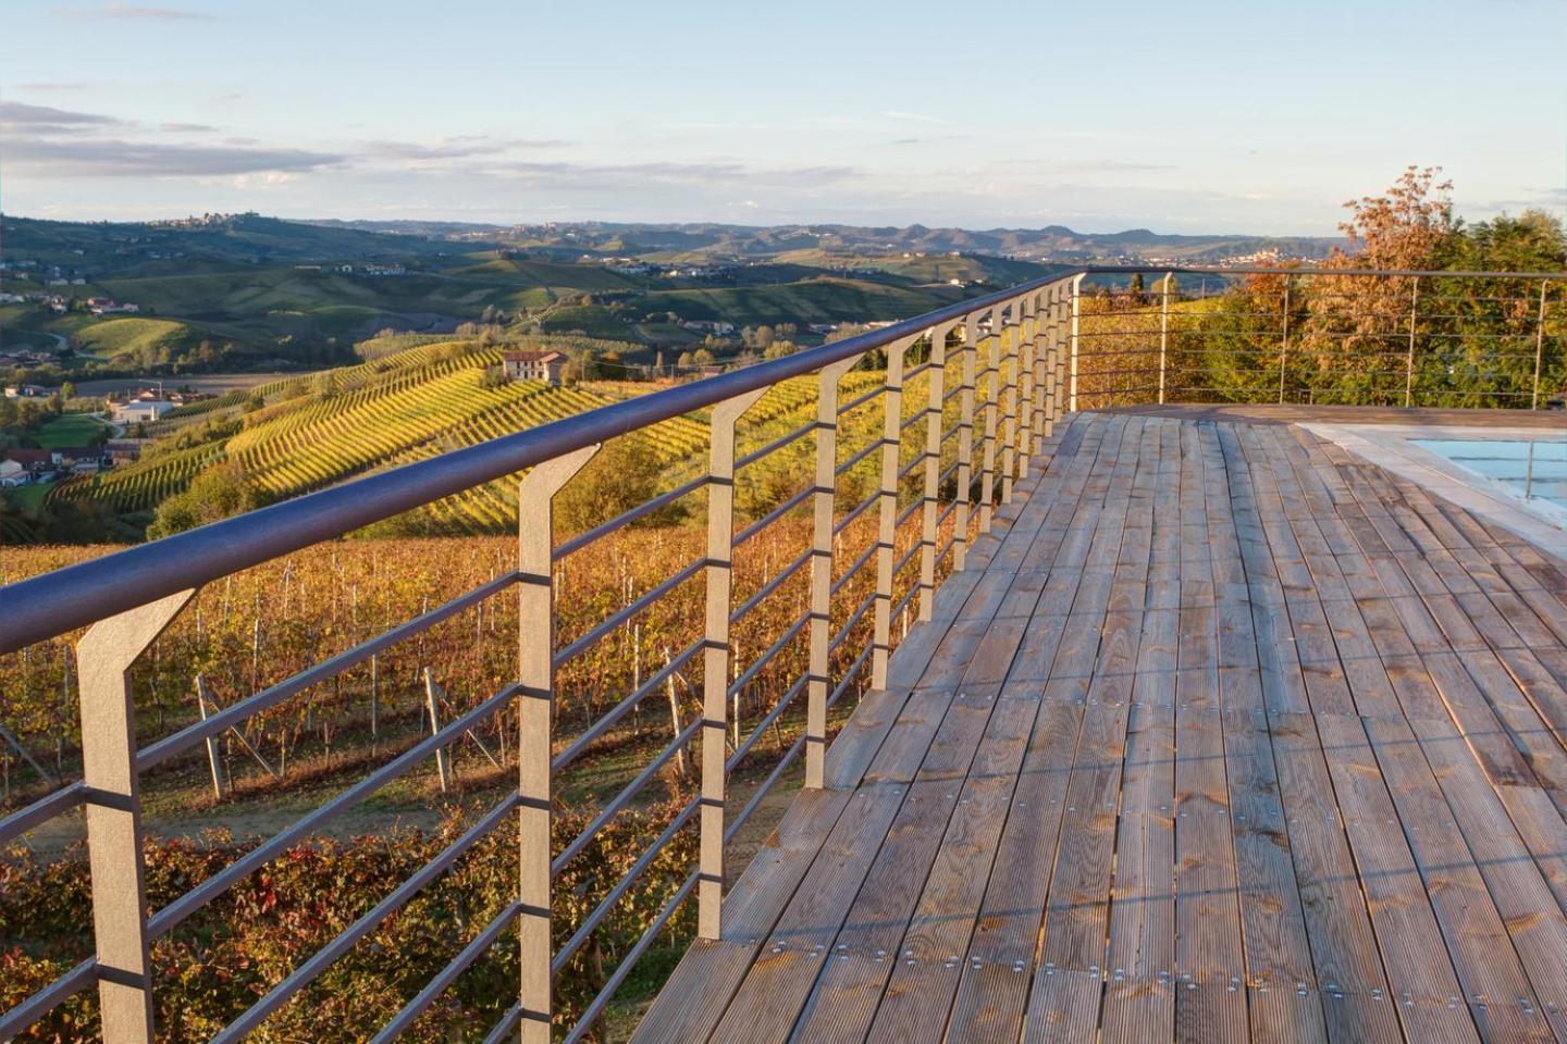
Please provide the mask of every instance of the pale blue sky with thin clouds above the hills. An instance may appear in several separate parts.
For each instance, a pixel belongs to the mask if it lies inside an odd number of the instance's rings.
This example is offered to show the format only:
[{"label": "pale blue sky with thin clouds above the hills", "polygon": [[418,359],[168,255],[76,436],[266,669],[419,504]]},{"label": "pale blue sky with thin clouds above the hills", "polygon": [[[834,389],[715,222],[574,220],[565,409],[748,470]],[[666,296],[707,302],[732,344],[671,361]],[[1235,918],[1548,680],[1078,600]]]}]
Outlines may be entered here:
[{"label": "pale blue sky with thin clouds above the hills", "polygon": [[0,207],[1334,235],[1567,210],[1567,0],[6,0]]}]

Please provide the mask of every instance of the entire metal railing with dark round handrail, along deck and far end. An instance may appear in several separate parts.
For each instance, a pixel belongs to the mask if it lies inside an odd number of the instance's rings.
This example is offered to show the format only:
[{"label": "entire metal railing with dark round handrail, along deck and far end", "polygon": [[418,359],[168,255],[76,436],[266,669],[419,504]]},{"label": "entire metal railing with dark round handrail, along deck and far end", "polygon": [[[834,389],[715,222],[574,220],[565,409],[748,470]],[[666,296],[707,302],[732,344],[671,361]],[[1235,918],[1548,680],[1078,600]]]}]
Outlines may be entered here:
[{"label": "entire metal railing with dark round handrail, along deck and far end", "polygon": [[[525,1041],[548,1041],[556,1014],[552,1002],[555,978],[591,941],[614,905],[632,894],[641,875],[672,839],[694,823],[699,834],[696,866],[652,916],[603,989],[564,1027],[567,1039],[581,1039],[603,1014],[636,959],[671,925],[688,898],[696,897],[696,933],[702,938],[722,934],[729,842],[801,754],[804,786],[823,786],[829,711],[846,693],[885,687],[888,656],[896,637],[895,621],[906,612],[920,620],[931,617],[939,576],[945,570],[964,568],[972,542],[990,531],[997,507],[1014,498],[1015,484],[1028,477],[1061,418],[1077,409],[1202,398],[1211,391],[1202,388],[1213,380],[1205,376],[1208,371],[1199,362],[1213,357],[1214,344],[1230,344],[1221,338],[1235,335],[1211,326],[1214,319],[1227,321],[1232,316],[1208,301],[1238,297],[1183,297],[1175,277],[1200,269],[1152,269],[1161,279],[1160,290],[1152,296],[1133,299],[1125,290],[1092,293],[1095,282],[1119,285],[1124,275],[1139,271],[1149,269],[1117,266],[1050,275],[845,341],[400,466],[0,589],[0,654],[88,628],[75,648],[81,703],[81,781],[66,784],[0,819],[0,844],[85,806],[92,894],[99,897],[92,905],[92,956],[19,1006],[0,1013],[0,1038],[34,1024],[67,997],[96,985],[103,1039],[110,1044],[150,1042],[152,941],[166,936],[233,884],[475,726],[503,711],[514,711],[517,787],[508,790],[498,805],[480,815],[417,873],[277,981],[215,1039],[240,1039],[259,1027],[420,889],[473,851],[503,823],[514,820],[520,836],[514,902],[483,925],[401,1011],[389,1013],[389,1022],[376,1039],[390,1039],[411,1027],[465,969],[498,941],[514,934],[520,966],[516,1005],[487,1039],[500,1041],[520,1033]],[[1227,280],[1244,274],[1236,269],[1205,272],[1207,277]],[[1255,269],[1252,275],[1258,280],[1282,277],[1285,282],[1277,290],[1276,316],[1266,308],[1246,313],[1247,321],[1258,327],[1246,330],[1246,338],[1266,338],[1268,352],[1277,354],[1277,369],[1260,366],[1255,387],[1236,385],[1241,393],[1254,396],[1250,401],[1261,398],[1255,393],[1257,387],[1266,388],[1268,401],[1272,401],[1276,391],[1279,401],[1301,401],[1307,398],[1302,390],[1315,398],[1313,388],[1293,376],[1296,371],[1291,371],[1291,358],[1296,358],[1294,365],[1299,368],[1296,352],[1305,352],[1312,344],[1319,358],[1332,358],[1323,355],[1323,346],[1330,344],[1330,340],[1310,340],[1308,315],[1297,308],[1299,282],[1412,279],[1413,286],[1421,286],[1428,279],[1446,277],[1432,272],[1321,271],[1282,275],[1272,269]],[[1503,279],[1496,274],[1482,277]],[[1556,319],[1554,313],[1548,316],[1547,286],[1548,280],[1567,277],[1522,274],[1506,279],[1537,280],[1540,286],[1533,385],[1506,394],[1531,405],[1543,405],[1548,385],[1542,387],[1542,374],[1545,380],[1553,380],[1553,374],[1562,373],[1562,332],[1556,326],[1548,329],[1548,322]],[[1274,290],[1263,282],[1260,286],[1252,285],[1247,293],[1258,302],[1271,302]],[[1410,291],[1410,299],[1417,311],[1410,313],[1413,318],[1409,326],[1417,333],[1409,344],[1417,344],[1420,335],[1437,337],[1431,326],[1435,315],[1418,311],[1421,297],[1415,291]],[[1279,319],[1277,337],[1269,326],[1274,318]],[[1319,327],[1323,337],[1329,337],[1334,330],[1330,324],[1337,319],[1329,310],[1318,315],[1316,321],[1324,324]],[[1421,322],[1426,324],[1423,330]],[[1357,327],[1354,333],[1362,338],[1381,337],[1374,327]],[[1344,333],[1346,338],[1348,335]],[[1260,354],[1263,341],[1254,344],[1243,338],[1232,347]],[[1409,362],[1409,351],[1406,346],[1402,399],[1417,402],[1428,388],[1415,380],[1417,366]],[[871,352],[885,355],[881,380],[863,394],[840,402],[840,380]],[[815,419],[738,454],[736,424],[746,412],[779,382],[801,377],[815,382]],[[1382,394],[1381,385],[1373,391]],[[906,398],[915,401],[906,404]],[[873,410],[878,404],[879,438],[859,449],[841,449],[838,435],[843,418]],[[710,410],[711,437],[699,476],[588,532],[555,543],[555,495],[592,460],[603,443],[694,410]],[[807,438],[813,443],[813,474],[809,479],[801,476],[798,493],[784,498],[749,524],[740,524],[735,515],[736,473]],[[878,474],[874,490],[854,504],[845,504],[840,481],[854,468],[871,466],[873,462]],[[127,671],[191,601],[196,589],[237,570],[523,470],[527,474],[517,490],[519,551],[514,570],[138,748]],[[694,495],[705,496],[705,556],[669,571],[663,582],[639,598],[566,645],[558,645],[556,590],[552,579],[555,568],[595,542]],[[809,546],[736,604],[732,576],[736,549],[787,515],[805,510],[810,515]],[[873,520],[874,534],[863,549],[845,551],[840,546],[846,538],[868,531]],[[851,601],[857,596],[860,581],[871,574],[873,587]],[[632,626],[639,614],[682,584],[697,579],[705,584],[700,637],[674,653],[663,668],[641,679],[578,734],[555,734],[559,695],[556,671],[610,634]],[[779,634],[766,635],[763,651],[741,668],[735,662],[730,629],[793,579],[809,584],[809,607]],[[519,599],[517,675],[511,684],[436,728],[426,739],[412,743],[284,831],[248,848],[232,864],[161,909],[144,914],[139,779],[146,773],[197,751],[227,729],[312,686],[338,678],[351,667],[370,662],[379,653],[511,592]],[[843,621],[837,629],[835,614]],[[868,637],[862,645],[851,645],[867,631]],[[736,729],[733,743],[727,743],[730,700],[769,665],[782,662],[780,654],[793,643],[807,646],[805,668],[788,681],[784,693],[757,720],[749,736],[740,737]],[[552,841],[556,779],[683,670],[700,671],[700,717],[680,728],[635,778],[605,801],[586,828],[556,851],[556,842]],[[746,805],[730,815],[729,779],[766,729],[791,707],[798,711],[801,697],[804,723],[799,737],[782,753]],[[617,814],[638,801],[639,792],[657,773],[671,759],[682,758],[691,743],[699,743],[700,748],[699,792],[680,806],[630,872],[570,927],[566,942],[556,949],[552,942],[553,883]]]}]

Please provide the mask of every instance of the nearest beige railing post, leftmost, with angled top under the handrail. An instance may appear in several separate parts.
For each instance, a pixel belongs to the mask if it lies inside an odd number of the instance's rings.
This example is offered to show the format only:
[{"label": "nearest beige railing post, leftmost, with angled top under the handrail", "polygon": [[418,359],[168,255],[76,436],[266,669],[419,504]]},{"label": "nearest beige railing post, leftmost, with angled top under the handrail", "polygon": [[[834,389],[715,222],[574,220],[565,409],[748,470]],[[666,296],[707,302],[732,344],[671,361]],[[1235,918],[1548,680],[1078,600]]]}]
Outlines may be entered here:
[{"label": "nearest beige railing post, leftmost, with angled top under the handrail", "polygon": [[147,886],[141,858],[141,781],[130,665],[194,590],[100,620],[77,643],[81,781],[88,787],[88,866],[103,1044],[152,1044]]}]

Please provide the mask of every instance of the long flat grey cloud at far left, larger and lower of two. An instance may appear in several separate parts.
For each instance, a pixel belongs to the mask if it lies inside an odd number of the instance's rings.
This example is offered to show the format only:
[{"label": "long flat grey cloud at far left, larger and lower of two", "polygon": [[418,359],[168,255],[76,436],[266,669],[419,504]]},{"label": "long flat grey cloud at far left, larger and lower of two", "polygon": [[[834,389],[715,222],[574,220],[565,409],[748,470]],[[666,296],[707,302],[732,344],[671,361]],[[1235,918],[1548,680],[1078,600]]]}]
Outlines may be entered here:
[{"label": "long flat grey cloud at far left, larger and lower of two", "polygon": [[346,157],[302,149],[176,146],[114,138],[24,138],[6,149],[13,169],[53,177],[232,177],[301,174],[340,166]]}]

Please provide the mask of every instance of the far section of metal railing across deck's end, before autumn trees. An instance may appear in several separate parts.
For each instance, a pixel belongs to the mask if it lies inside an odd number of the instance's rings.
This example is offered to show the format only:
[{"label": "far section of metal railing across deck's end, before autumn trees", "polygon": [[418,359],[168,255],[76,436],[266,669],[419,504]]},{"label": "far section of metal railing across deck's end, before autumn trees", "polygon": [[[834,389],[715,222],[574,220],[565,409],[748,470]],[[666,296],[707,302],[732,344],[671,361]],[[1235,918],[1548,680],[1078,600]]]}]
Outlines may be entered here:
[{"label": "far section of metal railing across deck's end, before autumn trees", "polygon": [[[1117,271],[1155,280],[1084,294],[1080,354],[1097,363],[1086,407],[1539,409],[1567,387],[1559,272]],[[1202,279],[1199,293],[1183,275]]]}]

